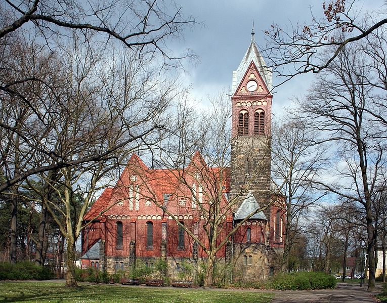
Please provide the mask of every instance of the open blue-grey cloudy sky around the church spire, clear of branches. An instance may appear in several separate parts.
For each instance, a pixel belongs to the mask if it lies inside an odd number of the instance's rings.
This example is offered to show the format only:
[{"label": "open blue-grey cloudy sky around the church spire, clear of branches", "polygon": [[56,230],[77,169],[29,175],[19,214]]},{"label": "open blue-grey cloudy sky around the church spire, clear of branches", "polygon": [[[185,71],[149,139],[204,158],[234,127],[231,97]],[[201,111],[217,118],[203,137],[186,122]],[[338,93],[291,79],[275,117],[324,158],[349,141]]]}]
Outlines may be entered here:
[{"label": "open blue-grey cloudy sky around the church spire, clear of branches", "polygon": [[[176,0],[186,16],[193,16],[203,26],[187,29],[184,40],[174,41],[172,48],[183,51],[192,49],[199,57],[196,64],[186,63],[181,79],[192,86],[192,95],[198,105],[206,104],[206,96],[231,89],[232,72],[240,64],[251,41],[254,21],[255,41],[258,47],[265,45],[264,31],[271,24],[281,26],[302,24],[314,16],[322,17],[321,0]],[[329,0],[326,0],[328,2]],[[358,1],[356,9],[361,12],[378,9],[383,0]],[[273,114],[280,116],[290,99],[303,96],[313,75],[298,76],[279,86],[273,97]],[[273,77],[273,84],[279,79]]]}]

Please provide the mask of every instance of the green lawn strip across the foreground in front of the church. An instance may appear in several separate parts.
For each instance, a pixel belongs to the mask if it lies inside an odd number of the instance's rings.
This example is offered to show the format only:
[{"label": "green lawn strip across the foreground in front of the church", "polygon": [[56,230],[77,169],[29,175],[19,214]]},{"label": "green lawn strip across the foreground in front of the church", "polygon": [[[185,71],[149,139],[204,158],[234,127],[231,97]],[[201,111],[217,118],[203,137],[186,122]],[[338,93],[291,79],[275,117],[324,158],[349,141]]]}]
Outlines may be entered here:
[{"label": "green lawn strip across the foreground in front of the church", "polygon": [[66,288],[53,282],[1,282],[0,302],[141,302],[141,303],[268,303],[274,294],[248,291],[85,285]]}]

